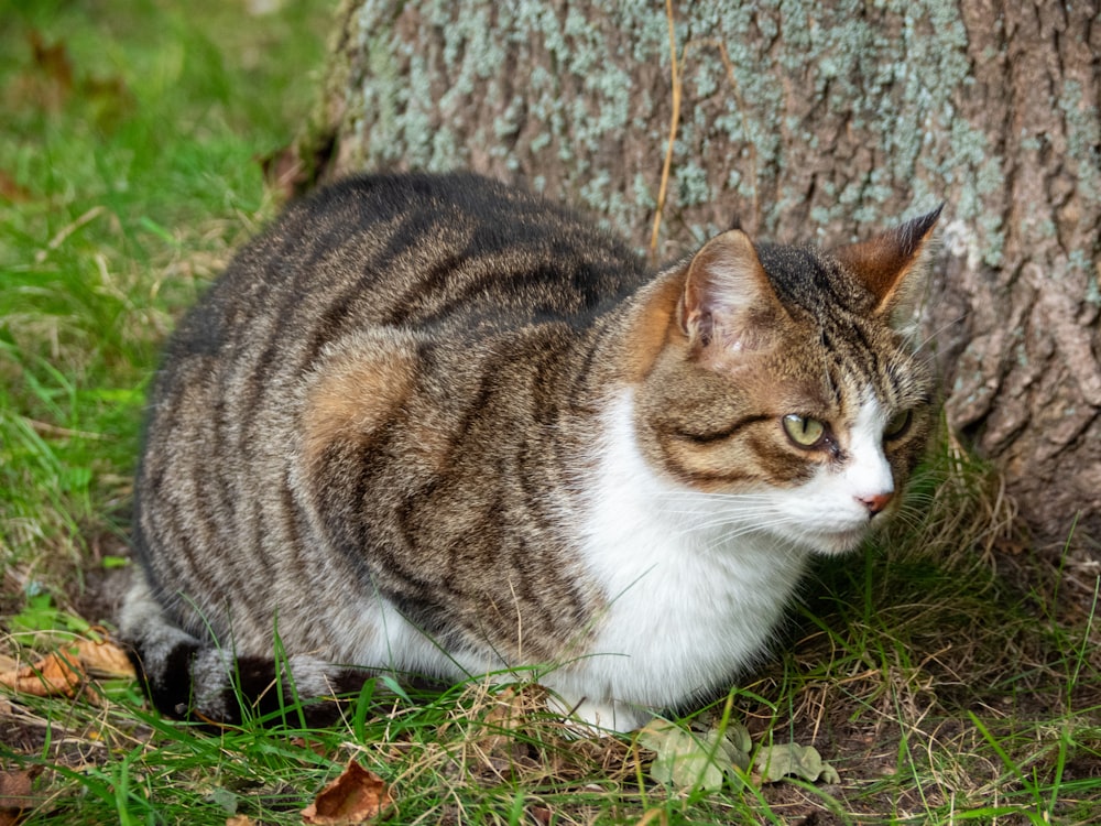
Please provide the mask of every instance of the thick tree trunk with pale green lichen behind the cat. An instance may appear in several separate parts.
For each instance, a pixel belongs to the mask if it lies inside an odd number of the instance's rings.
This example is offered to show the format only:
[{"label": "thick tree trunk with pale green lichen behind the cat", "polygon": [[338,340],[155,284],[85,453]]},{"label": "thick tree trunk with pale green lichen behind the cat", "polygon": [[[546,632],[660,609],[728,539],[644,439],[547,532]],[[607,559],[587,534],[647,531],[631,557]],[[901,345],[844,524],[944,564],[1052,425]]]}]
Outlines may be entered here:
[{"label": "thick tree trunk with pale green lichen behind the cat", "polygon": [[1038,540],[1101,539],[1098,0],[754,6],[350,0],[304,156],[526,183],[658,259],[947,200],[949,423]]}]

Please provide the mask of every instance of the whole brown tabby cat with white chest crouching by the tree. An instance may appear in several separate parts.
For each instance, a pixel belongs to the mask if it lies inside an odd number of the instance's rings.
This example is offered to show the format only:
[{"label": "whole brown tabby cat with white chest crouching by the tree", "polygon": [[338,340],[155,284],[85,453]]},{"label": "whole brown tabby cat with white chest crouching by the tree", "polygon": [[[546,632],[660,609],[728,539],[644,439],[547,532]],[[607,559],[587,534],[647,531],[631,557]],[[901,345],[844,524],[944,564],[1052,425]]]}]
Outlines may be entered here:
[{"label": "whole brown tabby cat with white chest crouching by the tree", "polygon": [[469,173],[293,203],[151,391],[120,628],[154,705],[523,666],[626,731],[730,685],[808,559],[898,508],[939,211],[832,252],[735,228],[655,273]]}]

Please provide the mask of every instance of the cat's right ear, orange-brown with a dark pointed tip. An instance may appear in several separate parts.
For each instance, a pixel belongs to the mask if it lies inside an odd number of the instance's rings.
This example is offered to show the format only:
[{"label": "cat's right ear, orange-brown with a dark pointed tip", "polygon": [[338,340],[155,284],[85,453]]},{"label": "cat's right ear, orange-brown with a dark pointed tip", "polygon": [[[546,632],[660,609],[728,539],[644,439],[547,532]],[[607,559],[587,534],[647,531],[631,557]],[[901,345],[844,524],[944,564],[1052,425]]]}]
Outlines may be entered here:
[{"label": "cat's right ear, orange-brown with a dark pointed tip", "polygon": [[875,314],[887,316],[895,326],[908,320],[916,308],[924,281],[923,253],[944,208],[941,204],[901,227],[833,251],[874,296]]}]

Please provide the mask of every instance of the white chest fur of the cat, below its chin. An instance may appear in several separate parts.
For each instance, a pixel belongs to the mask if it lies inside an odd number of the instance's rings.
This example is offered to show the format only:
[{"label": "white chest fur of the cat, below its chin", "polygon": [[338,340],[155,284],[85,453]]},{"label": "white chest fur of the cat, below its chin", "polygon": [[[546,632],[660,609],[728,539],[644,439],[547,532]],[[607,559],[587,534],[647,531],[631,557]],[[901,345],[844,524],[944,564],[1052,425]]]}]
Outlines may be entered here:
[{"label": "white chest fur of the cat, below its chin", "polygon": [[630,706],[683,703],[759,656],[808,556],[761,530],[760,498],[661,478],[631,420],[625,393],[606,419],[582,547],[610,605],[579,659],[543,681],[621,729],[644,715]]}]

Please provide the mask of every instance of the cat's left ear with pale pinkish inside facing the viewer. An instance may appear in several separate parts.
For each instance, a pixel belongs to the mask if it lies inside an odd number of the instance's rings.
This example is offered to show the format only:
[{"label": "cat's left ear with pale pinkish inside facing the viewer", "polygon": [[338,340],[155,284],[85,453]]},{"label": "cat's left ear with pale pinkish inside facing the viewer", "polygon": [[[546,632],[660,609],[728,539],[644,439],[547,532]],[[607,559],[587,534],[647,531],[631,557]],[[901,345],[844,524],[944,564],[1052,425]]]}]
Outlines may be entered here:
[{"label": "cat's left ear with pale pinkish inside facing the viewer", "polygon": [[766,349],[784,315],[753,243],[742,230],[716,236],[693,257],[678,316],[680,329],[694,347]]}]

